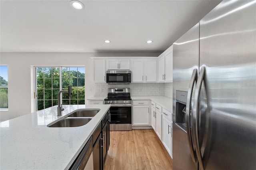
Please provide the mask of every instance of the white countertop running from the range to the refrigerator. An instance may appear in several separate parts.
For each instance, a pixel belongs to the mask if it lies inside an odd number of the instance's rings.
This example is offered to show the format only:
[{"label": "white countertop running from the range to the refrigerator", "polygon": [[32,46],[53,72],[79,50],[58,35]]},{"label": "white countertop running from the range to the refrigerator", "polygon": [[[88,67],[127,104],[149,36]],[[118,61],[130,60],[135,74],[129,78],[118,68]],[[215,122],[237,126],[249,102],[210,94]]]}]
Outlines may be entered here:
[{"label": "white countertop running from the range to the refrigerator", "polygon": [[172,113],[172,98],[166,96],[131,96],[132,100],[152,100]]}]

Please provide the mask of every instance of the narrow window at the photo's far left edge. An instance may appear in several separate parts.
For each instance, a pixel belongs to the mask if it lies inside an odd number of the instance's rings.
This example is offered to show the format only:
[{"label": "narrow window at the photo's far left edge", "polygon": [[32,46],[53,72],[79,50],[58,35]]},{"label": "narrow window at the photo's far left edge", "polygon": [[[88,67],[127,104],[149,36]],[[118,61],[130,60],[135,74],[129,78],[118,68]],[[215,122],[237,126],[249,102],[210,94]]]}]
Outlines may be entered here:
[{"label": "narrow window at the photo's far left edge", "polygon": [[8,67],[0,65],[0,109],[8,109]]}]

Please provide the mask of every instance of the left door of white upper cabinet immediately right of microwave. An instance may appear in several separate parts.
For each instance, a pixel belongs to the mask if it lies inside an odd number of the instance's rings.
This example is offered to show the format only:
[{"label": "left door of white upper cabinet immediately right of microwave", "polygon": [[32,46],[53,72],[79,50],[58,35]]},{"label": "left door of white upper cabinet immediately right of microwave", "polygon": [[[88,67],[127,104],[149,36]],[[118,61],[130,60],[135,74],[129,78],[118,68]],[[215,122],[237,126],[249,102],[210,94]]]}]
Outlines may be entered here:
[{"label": "left door of white upper cabinet immediately right of microwave", "polygon": [[143,60],[132,60],[132,82],[143,82]]}]

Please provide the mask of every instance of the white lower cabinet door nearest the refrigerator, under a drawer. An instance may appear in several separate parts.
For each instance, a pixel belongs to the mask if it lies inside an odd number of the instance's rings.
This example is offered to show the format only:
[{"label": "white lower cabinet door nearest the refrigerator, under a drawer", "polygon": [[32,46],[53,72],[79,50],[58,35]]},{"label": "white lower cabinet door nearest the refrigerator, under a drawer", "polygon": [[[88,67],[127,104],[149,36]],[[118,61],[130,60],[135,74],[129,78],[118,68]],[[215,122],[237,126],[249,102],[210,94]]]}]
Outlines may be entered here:
[{"label": "white lower cabinet door nearest the refrigerator, under a drawer", "polygon": [[172,157],[172,123],[163,116],[162,118],[162,142],[164,147]]}]

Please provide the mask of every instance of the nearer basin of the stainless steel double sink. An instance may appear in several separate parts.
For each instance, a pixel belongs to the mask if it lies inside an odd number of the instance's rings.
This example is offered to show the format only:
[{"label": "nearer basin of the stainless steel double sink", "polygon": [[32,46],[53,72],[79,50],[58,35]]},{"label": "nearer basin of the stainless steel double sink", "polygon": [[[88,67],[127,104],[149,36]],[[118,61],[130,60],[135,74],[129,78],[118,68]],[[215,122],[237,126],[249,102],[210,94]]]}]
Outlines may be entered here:
[{"label": "nearer basin of the stainless steel double sink", "polygon": [[80,127],[86,125],[92,118],[66,118],[47,127]]}]

